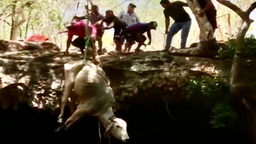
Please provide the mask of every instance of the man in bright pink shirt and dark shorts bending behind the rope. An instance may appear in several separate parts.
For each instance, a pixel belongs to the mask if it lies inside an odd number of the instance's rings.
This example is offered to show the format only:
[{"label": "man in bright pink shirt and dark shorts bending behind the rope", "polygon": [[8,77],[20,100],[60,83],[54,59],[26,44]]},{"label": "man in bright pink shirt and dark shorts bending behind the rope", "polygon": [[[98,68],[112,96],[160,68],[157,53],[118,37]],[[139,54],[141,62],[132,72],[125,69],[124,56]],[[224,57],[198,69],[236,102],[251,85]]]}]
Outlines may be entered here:
[{"label": "man in bright pink shirt and dark shorts bending behind the rope", "polygon": [[[85,48],[86,22],[79,20],[72,23],[67,22],[64,25],[68,30],[59,32],[58,34],[65,33],[65,32],[68,33],[66,53],[69,53],[69,47],[72,44],[73,46],[80,48],[81,53],[83,54],[84,48]],[[94,27],[94,25],[89,24],[89,30],[90,30],[90,38],[92,42],[95,43],[95,40],[97,37],[97,28]],[[72,41],[72,38],[74,35],[78,36],[78,38]],[[91,44],[91,46],[93,46],[93,44]]]}]

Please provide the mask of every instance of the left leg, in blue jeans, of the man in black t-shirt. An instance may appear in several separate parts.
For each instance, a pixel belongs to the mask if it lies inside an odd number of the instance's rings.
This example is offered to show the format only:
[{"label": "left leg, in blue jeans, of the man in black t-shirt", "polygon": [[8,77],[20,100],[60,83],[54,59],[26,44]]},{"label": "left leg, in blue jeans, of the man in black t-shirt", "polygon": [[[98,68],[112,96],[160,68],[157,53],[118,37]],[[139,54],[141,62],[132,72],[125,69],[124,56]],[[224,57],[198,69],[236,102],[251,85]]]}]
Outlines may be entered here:
[{"label": "left leg, in blue jeans, of the man in black t-shirt", "polygon": [[181,30],[181,23],[174,23],[171,25],[169,32],[167,34],[167,38],[166,38],[166,45],[165,48],[166,49],[170,49],[171,47],[171,41],[172,41],[172,37],[177,34],[180,30]]}]

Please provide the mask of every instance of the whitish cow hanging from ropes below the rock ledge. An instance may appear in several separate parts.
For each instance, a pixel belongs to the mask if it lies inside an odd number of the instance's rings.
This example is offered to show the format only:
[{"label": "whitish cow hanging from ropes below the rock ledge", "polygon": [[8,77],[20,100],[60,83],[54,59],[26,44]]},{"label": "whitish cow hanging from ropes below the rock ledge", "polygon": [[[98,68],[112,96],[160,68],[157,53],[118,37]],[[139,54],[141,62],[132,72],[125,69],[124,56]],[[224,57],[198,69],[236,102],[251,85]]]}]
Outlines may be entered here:
[{"label": "whitish cow hanging from ropes below the rock ledge", "polygon": [[[91,61],[80,60],[64,64],[65,88],[61,102],[61,112],[58,123],[61,124],[56,132],[68,130],[72,124],[80,120],[84,115],[96,116],[106,128],[104,137],[111,134],[127,142],[130,140],[127,134],[127,124],[124,120],[114,115],[111,105],[114,102],[114,92],[110,88],[109,79],[101,67]],[[63,122],[64,107],[68,98],[75,104],[73,96],[76,95],[79,101],[76,110]]]}]

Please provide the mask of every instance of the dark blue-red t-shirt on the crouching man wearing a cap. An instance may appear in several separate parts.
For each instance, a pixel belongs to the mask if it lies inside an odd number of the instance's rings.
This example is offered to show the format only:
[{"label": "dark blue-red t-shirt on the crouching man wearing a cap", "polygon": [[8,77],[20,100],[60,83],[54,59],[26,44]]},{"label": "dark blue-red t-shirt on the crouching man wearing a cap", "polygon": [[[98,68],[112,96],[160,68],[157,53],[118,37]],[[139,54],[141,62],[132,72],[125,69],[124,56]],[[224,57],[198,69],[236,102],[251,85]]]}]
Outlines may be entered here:
[{"label": "dark blue-red t-shirt on the crouching man wearing a cap", "polygon": [[129,27],[127,27],[126,29],[128,30],[129,33],[140,33],[140,34],[150,31],[147,23],[132,24]]}]

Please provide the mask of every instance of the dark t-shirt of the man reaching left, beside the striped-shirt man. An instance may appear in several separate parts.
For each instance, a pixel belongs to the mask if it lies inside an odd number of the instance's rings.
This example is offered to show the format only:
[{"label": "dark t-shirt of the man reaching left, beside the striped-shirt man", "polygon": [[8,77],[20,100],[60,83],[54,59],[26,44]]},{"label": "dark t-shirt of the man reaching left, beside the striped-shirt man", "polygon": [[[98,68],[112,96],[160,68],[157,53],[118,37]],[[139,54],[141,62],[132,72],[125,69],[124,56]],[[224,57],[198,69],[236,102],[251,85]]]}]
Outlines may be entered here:
[{"label": "dark t-shirt of the man reaching left, beside the striped-shirt man", "polygon": [[114,16],[108,19],[104,19],[103,20],[106,24],[111,24],[112,22],[114,22],[114,29],[115,30],[120,30],[120,29],[124,29],[126,28],[128,25],[126,24],[126,22],[122,21],[120,18]]}]

